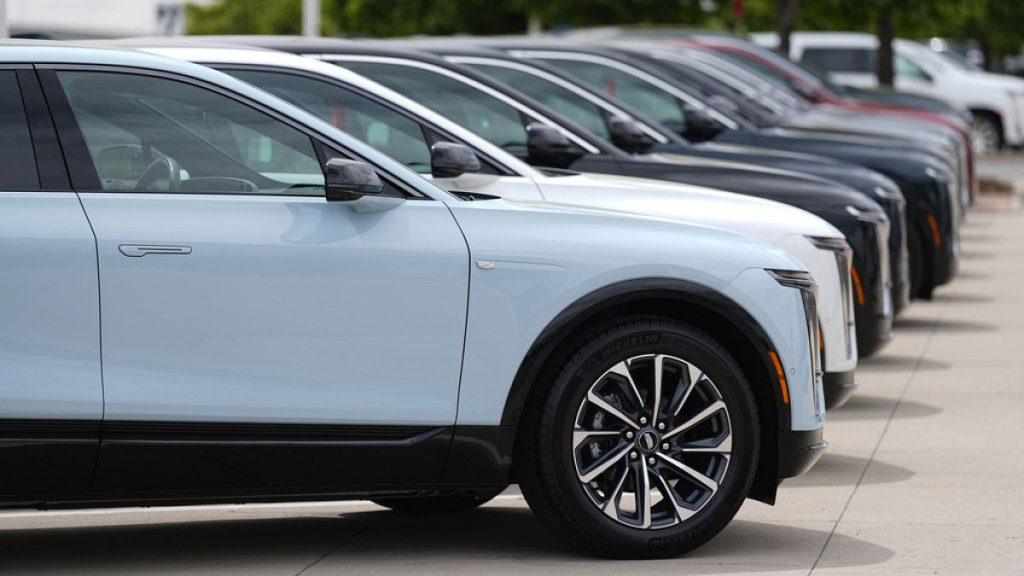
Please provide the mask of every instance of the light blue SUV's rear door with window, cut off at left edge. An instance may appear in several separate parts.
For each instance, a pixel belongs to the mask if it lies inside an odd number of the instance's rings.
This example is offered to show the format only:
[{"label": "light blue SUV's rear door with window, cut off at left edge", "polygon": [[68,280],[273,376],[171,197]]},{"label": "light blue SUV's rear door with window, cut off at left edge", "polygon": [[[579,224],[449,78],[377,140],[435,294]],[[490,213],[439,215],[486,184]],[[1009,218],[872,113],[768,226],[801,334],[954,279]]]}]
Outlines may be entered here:
[{"label": "light blue SUV's rear door with window, cut off at left edge", "polygon": [[103,410],[96,247],[31,66],[0,68],[0,498],[88,490]]}]

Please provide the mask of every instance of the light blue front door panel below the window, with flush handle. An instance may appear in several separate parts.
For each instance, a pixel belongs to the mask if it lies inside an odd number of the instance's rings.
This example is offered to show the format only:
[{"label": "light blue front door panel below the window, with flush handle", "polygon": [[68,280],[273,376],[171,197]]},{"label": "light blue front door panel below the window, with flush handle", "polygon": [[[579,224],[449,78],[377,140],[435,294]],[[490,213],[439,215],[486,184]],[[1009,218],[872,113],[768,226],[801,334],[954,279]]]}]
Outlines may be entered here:
[{"label": "light blue front door panel below the window, with flush handle", "polygon": [[455,420],[469,258],[442,203],[81,196],[99,241],[108,420]]}]

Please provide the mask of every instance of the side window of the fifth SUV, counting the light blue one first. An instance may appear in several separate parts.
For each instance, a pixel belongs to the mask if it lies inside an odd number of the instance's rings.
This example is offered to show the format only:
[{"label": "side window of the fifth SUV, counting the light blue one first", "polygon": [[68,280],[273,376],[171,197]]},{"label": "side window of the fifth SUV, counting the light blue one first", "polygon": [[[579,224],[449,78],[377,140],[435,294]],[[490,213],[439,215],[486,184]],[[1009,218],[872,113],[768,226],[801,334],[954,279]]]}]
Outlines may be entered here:
[{"label": "side window of the fifth SUV, counting the light blue one first", "polygon": [[545,61],[579,77],[609,97],[617,98],[638,111],[646,113],[673,130],[679,132],[685,130],[686,119],[679,101],[672,94],[662,91],[656,86],[651,86],[635,76],[602,64],[562,58],[546,59]]}]

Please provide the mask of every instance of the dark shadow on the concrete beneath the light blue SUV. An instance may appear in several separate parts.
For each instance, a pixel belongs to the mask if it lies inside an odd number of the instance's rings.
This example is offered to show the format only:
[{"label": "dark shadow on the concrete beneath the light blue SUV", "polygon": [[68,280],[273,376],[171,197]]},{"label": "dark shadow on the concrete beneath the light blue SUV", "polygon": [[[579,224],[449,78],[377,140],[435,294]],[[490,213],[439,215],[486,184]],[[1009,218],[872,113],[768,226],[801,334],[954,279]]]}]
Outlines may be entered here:
[{"label": "dark shadow on the concrete beneath the light blue SUV", "polygon": [[[617,573],[627,566],[567,547],[541,526],[521,500],[442,516],[376,509],[245,520],[217,516],[168,523],[139,520],[136,511],[124,524],[0,530],[0,574],[293,575],[303,571],[304,575],[453,576],[504,569],[515,574],[592,575]],[[737,520],[690,554],[644,566],[709,574],[721,573],[728,565],[734,571],[737,564],[777,570],[779,562],[799,564],[798,558],[816,557],[827,537],[827,531]],[[851,559],[850,566],[877,564],[893,556],[868,542],[858,545],[870,547],[870,553]],[[762,558],[766,562],[759,561]]]}]

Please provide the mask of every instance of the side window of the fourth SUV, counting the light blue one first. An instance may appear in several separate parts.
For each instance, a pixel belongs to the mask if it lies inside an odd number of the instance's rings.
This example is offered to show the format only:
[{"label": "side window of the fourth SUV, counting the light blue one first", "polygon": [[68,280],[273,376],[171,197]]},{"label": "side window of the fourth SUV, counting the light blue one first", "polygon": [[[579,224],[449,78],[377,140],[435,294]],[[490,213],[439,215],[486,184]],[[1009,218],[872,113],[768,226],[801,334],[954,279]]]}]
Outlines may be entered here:
[{"label": "side window of the fourth SUV, counting the light blue one first", "polygon": [[604,111],[597,105],[580,97],[572,90],[521,70],[483,64],[469,66],[495,80],[515,87],[516,90],[580,124],[601,138],[607,140],[611,137],[608,134]]}]

